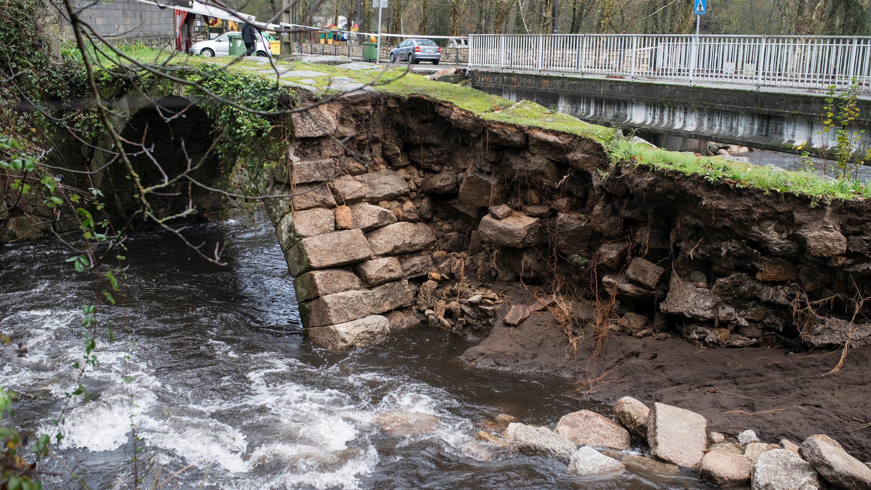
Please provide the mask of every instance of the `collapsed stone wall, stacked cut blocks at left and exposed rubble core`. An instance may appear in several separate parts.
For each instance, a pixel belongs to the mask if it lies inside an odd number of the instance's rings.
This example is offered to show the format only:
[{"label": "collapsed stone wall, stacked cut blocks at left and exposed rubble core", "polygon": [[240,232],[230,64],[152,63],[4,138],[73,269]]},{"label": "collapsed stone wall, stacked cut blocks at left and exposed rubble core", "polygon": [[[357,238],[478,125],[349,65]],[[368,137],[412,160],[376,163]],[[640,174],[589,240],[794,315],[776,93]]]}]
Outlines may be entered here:
[{"label": "collapsed stone wall, stacked cut blocks at left and exposed rubble core", "polygon": [[517,279],[570,284],[571,321],[618,334],[871,341],[864,201],[812,207],[611,163],[589,138],[427,97],[346,95],[294,117],[294,129],[272,191],[298,195],[268,199],[267,211],[321,344],[365,345],[421,322],[486,332],[504,299],[490,286]]}]

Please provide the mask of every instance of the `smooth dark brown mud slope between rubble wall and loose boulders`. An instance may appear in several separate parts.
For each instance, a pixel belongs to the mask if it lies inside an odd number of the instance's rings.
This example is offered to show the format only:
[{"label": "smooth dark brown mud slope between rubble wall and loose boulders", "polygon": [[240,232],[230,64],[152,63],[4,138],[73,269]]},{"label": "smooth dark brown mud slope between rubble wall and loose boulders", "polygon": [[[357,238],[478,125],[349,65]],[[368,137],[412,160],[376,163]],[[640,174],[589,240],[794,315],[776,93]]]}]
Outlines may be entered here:
[{"label": "smooth dark brown mud slope between rubble wall and loose boulders", "polygon": [[[517,304],[534,298],[518,287]],[[490,336],[461,359],[484,368],[557,374],[578,379],[579,397],[612,404],[623,396],[701,413],[710,430],[800,443],[825,433],[861,460],[871,460],[871,347],[851,349],[839,373],[841,350],[793,352],[778,347],[706,348],[671,332],[638,339],[591,326],[576,329],[577,349],[549,312],[520,326],[497,321]]]}]

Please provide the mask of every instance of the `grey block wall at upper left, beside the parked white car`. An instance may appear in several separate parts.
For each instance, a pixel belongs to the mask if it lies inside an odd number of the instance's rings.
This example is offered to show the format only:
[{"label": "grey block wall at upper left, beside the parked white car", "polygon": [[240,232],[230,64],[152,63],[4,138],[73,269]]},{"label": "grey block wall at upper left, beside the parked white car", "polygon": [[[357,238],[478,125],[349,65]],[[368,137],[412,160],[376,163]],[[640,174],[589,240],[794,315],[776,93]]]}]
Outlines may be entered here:
[{"label": "grey block wall at upper left, beside the parked white car", "polygon": [[[77,1],[73,4],[81,8],[87,3]],[[172,17],[172,9],[161,9],[136,0],[98,2],[82,14],[82,20],[90,23],[100,35],[114,36],[110,38],[112,42],[141,41],[144,44],[169,45],[175,43],[175,23]],[[72,41],[70,24],[64,23],[63,35],[64,41]]]}]

